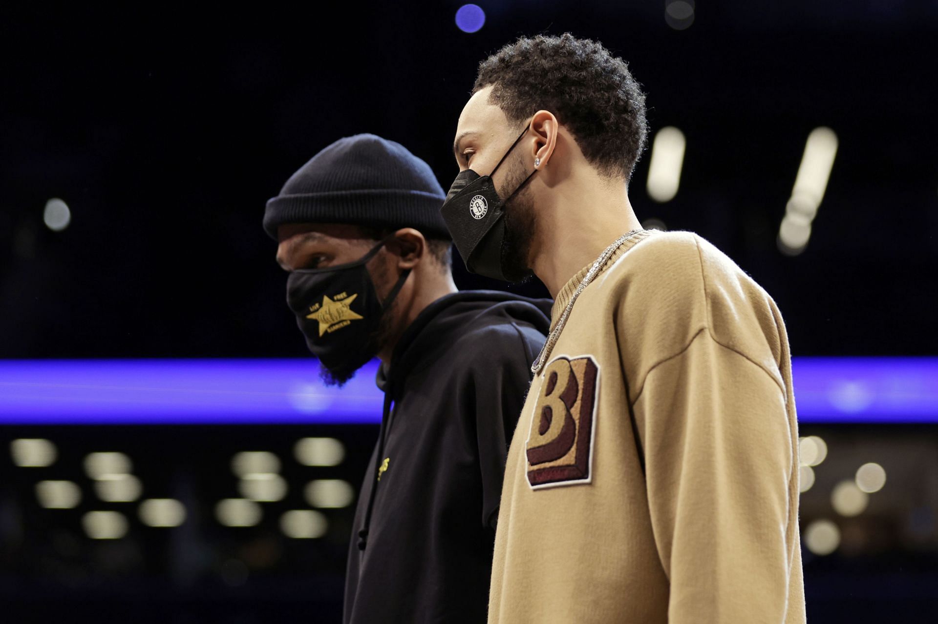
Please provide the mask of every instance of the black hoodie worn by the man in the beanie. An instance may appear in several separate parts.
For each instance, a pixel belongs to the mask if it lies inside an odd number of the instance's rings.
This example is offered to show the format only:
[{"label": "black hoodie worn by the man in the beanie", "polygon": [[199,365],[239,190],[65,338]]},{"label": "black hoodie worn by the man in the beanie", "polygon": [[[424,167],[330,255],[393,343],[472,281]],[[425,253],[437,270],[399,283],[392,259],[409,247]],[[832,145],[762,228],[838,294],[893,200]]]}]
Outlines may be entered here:
[{"label": "black hoodie worn by the man in the beanie", "polygon": [[378,370],[385,413],[358,498],[346,624],[485,621],[508,443],[550,307],[446,295]]}]

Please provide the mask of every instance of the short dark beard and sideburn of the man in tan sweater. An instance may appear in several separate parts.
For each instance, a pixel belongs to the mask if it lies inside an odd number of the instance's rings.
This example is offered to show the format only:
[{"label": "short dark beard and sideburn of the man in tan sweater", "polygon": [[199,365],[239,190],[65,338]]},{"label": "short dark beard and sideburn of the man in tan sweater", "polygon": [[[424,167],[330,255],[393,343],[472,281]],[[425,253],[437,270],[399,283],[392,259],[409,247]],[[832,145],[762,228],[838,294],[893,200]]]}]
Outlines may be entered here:
[{"label": "short dark beard and sideburn of the man in tan sweater", "polygon": [[502,273],[513,283],[526,282],[532,275],[528,259],[535,233],[534,198],[529,186],[518,190],[529,175],[519,158],[512,164],[499,192],[502,197],[516,193],[505,204],[505,239],[502,241]]}]

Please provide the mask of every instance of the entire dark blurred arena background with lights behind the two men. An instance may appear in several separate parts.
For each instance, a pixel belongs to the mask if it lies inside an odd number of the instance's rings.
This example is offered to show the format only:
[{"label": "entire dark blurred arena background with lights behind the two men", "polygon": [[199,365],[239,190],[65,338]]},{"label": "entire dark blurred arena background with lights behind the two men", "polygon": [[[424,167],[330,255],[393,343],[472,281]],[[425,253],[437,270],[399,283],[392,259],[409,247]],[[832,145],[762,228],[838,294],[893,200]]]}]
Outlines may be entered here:
[{"label": "entire dark blurred arena background with lights behind the two men", "polygon": [[448,187],[478,62],[564,32],[647,93],[643,225],[785,315],[809,620],[938,621],[938,2],[477,2],[0,8],[3,621],[340,620],[382,396],[265,201],[359,132]]}]

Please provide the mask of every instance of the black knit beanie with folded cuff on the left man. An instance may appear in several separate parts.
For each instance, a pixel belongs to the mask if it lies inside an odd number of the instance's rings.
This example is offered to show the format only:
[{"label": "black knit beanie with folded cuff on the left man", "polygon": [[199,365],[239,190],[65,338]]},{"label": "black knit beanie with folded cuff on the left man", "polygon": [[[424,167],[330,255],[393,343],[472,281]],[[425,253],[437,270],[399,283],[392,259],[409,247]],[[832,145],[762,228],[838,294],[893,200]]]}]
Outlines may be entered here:
[{"label": "black knit beanie with folded cuff on the left man", "polygon": [[358,134],[326,147],[267,201],[264,230],[277,240],[285,223],[351,223],[415,228],[450,239],[440,206],[446,199],[430,166],[400,143]]}]

